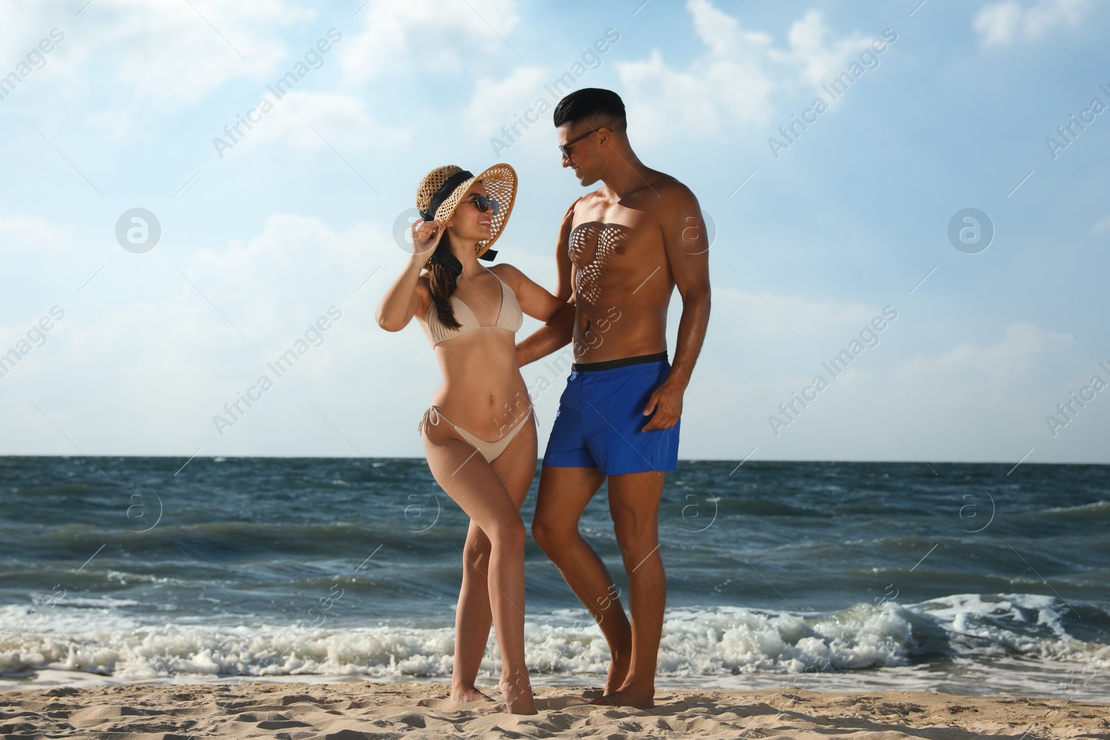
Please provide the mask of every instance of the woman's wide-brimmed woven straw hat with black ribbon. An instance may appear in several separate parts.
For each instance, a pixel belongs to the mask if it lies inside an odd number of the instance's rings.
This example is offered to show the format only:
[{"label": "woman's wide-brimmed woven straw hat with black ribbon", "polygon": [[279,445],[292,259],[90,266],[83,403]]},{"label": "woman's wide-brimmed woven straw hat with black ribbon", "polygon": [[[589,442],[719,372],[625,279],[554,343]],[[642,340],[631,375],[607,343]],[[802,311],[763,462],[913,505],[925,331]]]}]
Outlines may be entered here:
[{"label": "woman's wide-brimmed woven straw hat with black ribbon", "polygon": [[[416,188],[416,208],[425,221],[446,221],[454,214],[470,187],[480,180],[485,184],[490,200],[497,202],[497,212],[487,213],[493,236],[477,243],[477,256],[482,257],[497,241],[513,211],[516,170],[511,164],[494,164],[476,176],[455,164],[437,167],[420,181]],[[487,259],[492,257],[493,254]]]}]

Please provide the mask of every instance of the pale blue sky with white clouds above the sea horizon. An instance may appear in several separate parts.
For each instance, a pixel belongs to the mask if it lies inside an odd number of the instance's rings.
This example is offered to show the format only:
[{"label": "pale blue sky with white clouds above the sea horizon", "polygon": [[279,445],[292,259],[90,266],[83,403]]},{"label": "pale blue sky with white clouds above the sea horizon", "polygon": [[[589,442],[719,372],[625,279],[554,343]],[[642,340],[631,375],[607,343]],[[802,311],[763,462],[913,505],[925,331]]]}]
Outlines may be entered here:
[{"label": "pale blue sky with white clouds above the sea horizon", "polygon": [[[511,163],[497,259],[553,290],[585,192],[551,120],[573,86],[618,92],[712,223],[680,458],[1110,462],[1108,21],[1096,0],[0,4],[0,454],[421,456],[438,367],[415,321],[374,321],[416,184]],[[523,369],[541,452],[562,367]]]}]

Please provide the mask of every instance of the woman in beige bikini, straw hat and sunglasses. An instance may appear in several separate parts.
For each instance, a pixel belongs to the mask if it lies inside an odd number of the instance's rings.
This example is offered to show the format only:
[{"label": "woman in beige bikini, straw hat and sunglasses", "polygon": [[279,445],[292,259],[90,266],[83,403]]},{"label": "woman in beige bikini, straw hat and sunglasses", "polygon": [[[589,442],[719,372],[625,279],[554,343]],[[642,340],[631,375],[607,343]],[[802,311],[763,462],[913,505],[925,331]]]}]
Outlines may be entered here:
[{"label": "woman in beige bikini, straw hat and sunglasses", "polygon": [[515,337],[522,312],[547,321],[564,303],[509,264],[478,263],[496,253],[490,246],[515,196],[508,164],[477,177],[453,164],[428,172],[416,190],[422,220],[412,228],[413,256],[377,307],[377,323],[400,331],[415,317],[443,371],[417,430],[436,482],[471,518],[451,698],[492,701],[474,686],[492,619],[505,710],[534,714],[521,506],[536,471],[536,426]]}]

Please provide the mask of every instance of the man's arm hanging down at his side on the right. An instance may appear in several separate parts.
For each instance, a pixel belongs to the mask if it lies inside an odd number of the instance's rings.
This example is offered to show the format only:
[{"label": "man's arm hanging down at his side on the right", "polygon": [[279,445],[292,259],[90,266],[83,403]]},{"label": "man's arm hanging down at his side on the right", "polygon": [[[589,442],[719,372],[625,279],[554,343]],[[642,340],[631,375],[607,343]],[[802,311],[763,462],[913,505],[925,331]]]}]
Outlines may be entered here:
[{"label": "man's arm hanging down at his side on the right", "polygon": [[694,363],[702,352],[709,326],[709,243],[697,198],[684,186],[675,193],[673,208],[666,210],[663,240],[675,287],[683,299],[683,316],[678,322],[678,346],[670,373],[655,389],[644,408],[644,416],[654,412],[644,426],[669,429],[678,423],[683,412],[683,393],[694,374]]}]

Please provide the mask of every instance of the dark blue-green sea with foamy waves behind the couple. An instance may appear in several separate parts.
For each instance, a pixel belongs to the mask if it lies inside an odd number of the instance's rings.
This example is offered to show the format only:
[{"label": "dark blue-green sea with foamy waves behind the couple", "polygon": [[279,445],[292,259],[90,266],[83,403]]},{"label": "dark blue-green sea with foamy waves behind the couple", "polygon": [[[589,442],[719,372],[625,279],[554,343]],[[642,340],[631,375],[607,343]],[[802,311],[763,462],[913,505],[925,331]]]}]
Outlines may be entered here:
[{"label": "dark blue-green sea with foamy waves behind the couple", "polygon": [[[0,458],[0,689],[450,681],[466,527],[423,459]],[[684,460],[659,542],[660,689],[1110,700],[1110,467]],[[533,683],[602,686],[531,538],[525,573]]]}]

